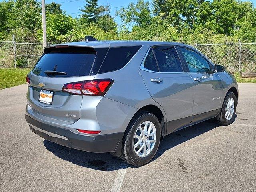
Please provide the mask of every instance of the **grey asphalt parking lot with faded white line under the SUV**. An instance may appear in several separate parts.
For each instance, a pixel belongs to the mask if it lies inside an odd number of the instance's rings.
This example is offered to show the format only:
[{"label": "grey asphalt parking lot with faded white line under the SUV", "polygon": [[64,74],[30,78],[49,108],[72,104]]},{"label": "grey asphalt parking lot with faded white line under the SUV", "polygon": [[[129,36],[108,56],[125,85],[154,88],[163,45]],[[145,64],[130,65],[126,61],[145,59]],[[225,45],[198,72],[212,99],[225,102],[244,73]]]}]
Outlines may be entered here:
[{"label": "grey asphalt parking lot with faded white line under the SUV", "polygon": [[256,191],[256,84],[238,86],[233,124],[174,132],[142,167],[40,138],[24,118],[27,86],[0,90],[0,191]]}]

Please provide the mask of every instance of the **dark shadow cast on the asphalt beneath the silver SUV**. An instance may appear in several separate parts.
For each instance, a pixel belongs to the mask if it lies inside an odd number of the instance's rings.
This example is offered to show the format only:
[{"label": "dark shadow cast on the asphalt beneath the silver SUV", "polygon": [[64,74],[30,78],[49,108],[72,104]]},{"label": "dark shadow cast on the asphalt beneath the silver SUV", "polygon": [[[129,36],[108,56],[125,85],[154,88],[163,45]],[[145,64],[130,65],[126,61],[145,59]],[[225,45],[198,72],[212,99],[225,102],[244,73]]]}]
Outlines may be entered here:
[{"label": "dark shadow cast on the asphalt beneath the silver SUV", "polygon": [[[170,150],[171,148],[182,144],[187,140],[195,138],[219,126],[220,125],[216,124],[214,121],[208,120],[165,136],[164,140],[160,142],[158,152],[156,153],[153,160],[159,158],[162,154],[164,154],[166,150]],[[112,156],[109,153],[96,154],[91,152],[84,152],[81,150],[61,146],[48,140],[44,140],[44,146],[48,151],[52,152],[58,158],[69,161],[78,166],[95,170],[118,170],[122,162],[120,158]],[[130,167],[136,168],[135,166]]]}]

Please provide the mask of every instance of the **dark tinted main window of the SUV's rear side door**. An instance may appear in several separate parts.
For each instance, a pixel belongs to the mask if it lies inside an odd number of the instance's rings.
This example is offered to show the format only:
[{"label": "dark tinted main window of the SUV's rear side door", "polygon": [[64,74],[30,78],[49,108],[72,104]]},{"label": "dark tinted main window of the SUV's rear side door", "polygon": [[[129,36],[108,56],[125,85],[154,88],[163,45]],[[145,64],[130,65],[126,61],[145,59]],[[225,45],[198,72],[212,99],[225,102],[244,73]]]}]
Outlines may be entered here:
[{"label": "dark tinted main window of the SUV's rear side door", "polygon": [[160,72],[183,72],[178,53],[174,46],[153,48]]}]

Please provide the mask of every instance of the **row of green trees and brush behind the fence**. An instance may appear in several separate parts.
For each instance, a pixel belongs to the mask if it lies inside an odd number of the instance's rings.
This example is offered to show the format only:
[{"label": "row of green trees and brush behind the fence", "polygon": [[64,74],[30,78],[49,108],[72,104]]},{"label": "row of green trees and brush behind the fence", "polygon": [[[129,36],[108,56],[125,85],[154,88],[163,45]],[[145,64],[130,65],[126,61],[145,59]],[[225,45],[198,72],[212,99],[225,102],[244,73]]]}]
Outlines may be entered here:
[{"label": "row of green trees and brush behind the fence", "polygon": [[[46,4],[48,42],[83,40],[161,40],[194,43],[256,41],[256,10],[252,2],[239,0],[138,0],[116,12],[122,21],[117,28],[110,5],[86,0],[80,17],[66,16],[60,4]],[[40,1],[0,2],[0,37],[20,42],[42,41]]]}]

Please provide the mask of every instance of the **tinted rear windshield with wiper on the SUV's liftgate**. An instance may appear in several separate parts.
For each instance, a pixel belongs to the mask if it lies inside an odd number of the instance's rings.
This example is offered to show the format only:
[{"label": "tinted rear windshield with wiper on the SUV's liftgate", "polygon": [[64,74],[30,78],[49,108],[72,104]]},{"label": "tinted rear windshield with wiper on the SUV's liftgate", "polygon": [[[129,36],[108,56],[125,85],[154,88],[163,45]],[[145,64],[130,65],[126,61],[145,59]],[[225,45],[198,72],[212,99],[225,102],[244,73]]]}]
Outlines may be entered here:
[{"label": "tinted rear windshield with wiper on the SUV's liftgate", "polygon": [[92,48],[46,49],[32,72],[39,76],[47,76],[44,71],[53,70],[67,73],[55,75],[56,77],[86,76],[90,73],[95,57],[96,52]]}]

